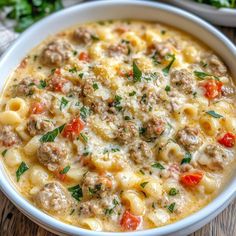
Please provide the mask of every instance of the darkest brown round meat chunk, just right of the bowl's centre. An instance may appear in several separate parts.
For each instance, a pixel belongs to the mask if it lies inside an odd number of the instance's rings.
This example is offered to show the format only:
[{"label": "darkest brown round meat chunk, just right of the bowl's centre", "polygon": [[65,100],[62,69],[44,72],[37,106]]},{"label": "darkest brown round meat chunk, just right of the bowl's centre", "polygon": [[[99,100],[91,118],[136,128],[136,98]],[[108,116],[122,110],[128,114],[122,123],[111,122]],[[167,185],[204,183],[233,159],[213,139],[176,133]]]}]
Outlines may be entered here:
[{"label": "darkest brown round meat chunk, just right of the bowl's centre", "polygon": [[148,140],[156,139],[165,131],[165,122],[158,117],[153,117],[145,122],[143,128],[144,136]]}]

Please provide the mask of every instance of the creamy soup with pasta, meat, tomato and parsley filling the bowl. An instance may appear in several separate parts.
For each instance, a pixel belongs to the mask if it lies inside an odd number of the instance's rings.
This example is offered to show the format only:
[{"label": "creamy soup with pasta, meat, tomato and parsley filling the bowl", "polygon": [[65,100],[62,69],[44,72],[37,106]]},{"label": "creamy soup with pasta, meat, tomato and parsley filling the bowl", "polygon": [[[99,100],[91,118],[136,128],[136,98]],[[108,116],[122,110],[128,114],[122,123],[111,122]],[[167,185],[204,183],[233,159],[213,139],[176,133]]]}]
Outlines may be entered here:
[{"label": "creamy soup with pasta, meat, tomato and parsley filling the bowl", "polygon": [[201,209],[235,167],[235,86],[221,59],[165,25],[105,21],[48,38],[1,97],[2,161],[66,223],[142,230]]}]

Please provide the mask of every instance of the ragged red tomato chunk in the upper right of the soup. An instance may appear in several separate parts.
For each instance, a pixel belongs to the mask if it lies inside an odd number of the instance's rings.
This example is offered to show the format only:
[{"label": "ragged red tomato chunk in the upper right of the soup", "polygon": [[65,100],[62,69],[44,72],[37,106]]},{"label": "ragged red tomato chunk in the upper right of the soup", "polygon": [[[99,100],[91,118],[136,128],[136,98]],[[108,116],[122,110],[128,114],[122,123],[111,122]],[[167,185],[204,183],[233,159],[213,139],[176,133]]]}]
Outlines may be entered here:
[{"label": "ragged red tomato chunk in the upper right of the soup", "polygon": [[218,97],[221,94],[222,86],[223,83],[218,80],[208,80],[203,84],[203,87],[205,88],[205,97],[209,99]]}]

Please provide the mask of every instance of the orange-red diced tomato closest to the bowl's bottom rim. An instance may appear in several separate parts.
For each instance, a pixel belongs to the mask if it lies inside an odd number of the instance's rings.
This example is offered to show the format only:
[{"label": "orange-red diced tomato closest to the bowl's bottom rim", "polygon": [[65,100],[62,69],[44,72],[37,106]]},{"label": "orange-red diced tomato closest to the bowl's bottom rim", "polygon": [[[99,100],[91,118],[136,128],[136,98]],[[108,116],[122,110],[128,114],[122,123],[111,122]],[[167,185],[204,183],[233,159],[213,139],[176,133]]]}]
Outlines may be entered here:
[{"label": "orange-red diced tomato closest to the bowl's bottom rim", "polygon": [[125,231],[136,230],[140,223],[140,216],[135,216],[127,210],[124,212],[120,221],[120,225]]}]

